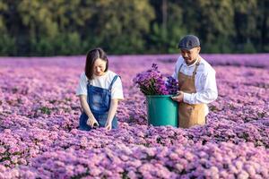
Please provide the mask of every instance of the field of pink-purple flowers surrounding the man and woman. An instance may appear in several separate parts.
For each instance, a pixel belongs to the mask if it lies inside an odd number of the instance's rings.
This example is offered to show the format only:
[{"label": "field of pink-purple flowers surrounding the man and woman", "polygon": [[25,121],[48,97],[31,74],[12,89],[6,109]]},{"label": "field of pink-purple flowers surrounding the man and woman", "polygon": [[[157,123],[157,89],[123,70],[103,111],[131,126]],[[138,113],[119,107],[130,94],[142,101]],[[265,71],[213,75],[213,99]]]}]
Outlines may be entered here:
[{"label": "field of pink-purple flowers surrounding the man and woman", "polygon": [[178,55],[109,56],[123,81],[119,129],[82,132],[84,56],[0,58],[0,178],[269,178],[269,55],[202,55],[219,97],[207,124],[148,126],[136,73]]}]

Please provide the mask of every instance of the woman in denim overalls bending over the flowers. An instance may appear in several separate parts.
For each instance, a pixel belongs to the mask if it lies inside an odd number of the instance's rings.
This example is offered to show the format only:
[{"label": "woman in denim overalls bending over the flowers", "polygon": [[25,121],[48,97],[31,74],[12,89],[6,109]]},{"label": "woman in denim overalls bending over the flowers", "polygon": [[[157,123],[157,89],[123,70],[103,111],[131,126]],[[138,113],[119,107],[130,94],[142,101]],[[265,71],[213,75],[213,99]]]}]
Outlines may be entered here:
[{"label": "woman in denim overalls bending over the flowers", "polygon": [[88,52],[76,95],[80,98],[82,115],[79,129],[105,127],[117,129],[117,104],[123,99],[121,79],[108,70],[108,57],[101,48]]}]

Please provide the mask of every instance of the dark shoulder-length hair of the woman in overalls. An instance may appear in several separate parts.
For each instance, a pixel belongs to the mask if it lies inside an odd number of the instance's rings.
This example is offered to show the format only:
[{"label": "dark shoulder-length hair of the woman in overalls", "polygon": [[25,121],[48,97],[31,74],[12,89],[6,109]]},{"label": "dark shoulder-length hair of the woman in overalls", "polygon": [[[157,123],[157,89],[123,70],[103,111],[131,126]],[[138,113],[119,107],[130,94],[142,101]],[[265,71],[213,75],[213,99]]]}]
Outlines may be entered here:
[{"label": "dark shoulder-length hair of the woman in overalls", "polygon": [[94,66],[95,60],[98,58],[106,62],[105,72],[108,71],[108,57],[105,51],[100,47],[91,49],[87,53],[86,64],[85,64],[85,74],[89,80],[93,79],[93,66]]}]

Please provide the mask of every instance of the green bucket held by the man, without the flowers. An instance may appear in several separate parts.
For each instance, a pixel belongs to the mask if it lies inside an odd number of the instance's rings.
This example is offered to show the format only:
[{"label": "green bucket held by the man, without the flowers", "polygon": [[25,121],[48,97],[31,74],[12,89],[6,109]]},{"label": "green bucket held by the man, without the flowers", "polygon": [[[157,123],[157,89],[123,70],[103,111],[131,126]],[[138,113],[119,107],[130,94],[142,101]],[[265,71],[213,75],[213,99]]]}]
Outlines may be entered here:
[{"label": "green bucket held by the man, without the flowers", "polygon": [[146,96],[148,124],[178,127],[178,102],[172,100],[171,96]]}]

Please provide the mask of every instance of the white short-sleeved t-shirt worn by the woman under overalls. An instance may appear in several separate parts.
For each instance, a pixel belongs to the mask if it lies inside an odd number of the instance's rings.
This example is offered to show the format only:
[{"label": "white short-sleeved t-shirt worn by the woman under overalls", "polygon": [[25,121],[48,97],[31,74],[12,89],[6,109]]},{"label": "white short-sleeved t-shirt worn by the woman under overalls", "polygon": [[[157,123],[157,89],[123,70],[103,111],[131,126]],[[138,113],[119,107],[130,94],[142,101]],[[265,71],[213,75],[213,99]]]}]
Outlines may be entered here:
[{"label": "white short-sleeved t-shirt worn by the woman under overalls", "polygon": [[[102,89],[108,89],[110,83],[112,82],[113,78],[116,75],[117,74],[115,72],[111,72],[108,70],[108,72],[106,72],[104,75],[94,77],[94,79],[91,80],[91,85],[95,87],[100,87]],[[77,96],[79,95],[87,96],[87,83],[88,78],[85,72],[82,72],[79,84],[76,89]],[[122,82],[119,77],[117,77],[117,80],[112,85],[111,98],[124,99]]]}]

